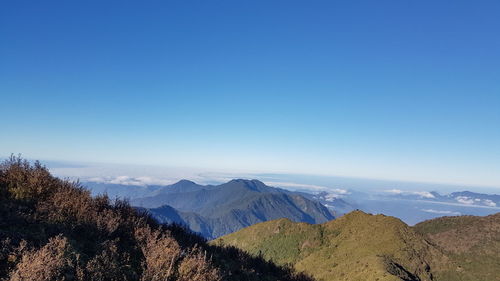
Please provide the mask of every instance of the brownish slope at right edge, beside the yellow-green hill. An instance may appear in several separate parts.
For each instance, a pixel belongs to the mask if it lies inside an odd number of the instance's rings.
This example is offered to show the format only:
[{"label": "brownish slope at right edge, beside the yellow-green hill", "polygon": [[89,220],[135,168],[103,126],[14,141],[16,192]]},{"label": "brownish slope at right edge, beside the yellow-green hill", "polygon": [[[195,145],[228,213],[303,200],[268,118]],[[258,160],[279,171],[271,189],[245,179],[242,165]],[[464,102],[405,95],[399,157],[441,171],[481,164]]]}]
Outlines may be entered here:
[{"label": "brownish slope at right edge, beside the yellow-green hill", "polygon": [[500,213],[442,217],[414,228],[450,257],[446,280],[500,280]]}]

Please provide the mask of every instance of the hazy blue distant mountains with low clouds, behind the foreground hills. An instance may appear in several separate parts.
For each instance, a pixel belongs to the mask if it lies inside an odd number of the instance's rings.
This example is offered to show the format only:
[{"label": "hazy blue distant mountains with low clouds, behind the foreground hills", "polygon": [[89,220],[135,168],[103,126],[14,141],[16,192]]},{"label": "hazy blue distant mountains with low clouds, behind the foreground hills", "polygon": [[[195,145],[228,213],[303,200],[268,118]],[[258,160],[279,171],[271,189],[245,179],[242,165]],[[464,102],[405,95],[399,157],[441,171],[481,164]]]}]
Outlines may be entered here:
[{"label": "hazy blue distant mountains with low clouds, behind the foreground hills", "polygon": [[[140,182],[130,178],[127,181]],[[246,187],[239,186],[237,181],[246,182]],[[316,205],[304,211],[297,203],[298,198],[319,202],[335,217],[359,209],[394,216],[409,225],[446,215],[485,216],[500,211],[499,195],[471,191],[441,194],[381,188],[361,192],[337,186],[299,192],[265,186],[256,180],[234,180],[220,185],[199,185],[189,180],[171,185],[120,182],[123,181],[109,178],[107,182],[85,182],[85,185],[93,195],[106,193],[111,198],[128,198],[134,206],[149,209],[159,221],[187,225],[208,239],[280,217],[309,223],[330,218],[328,215],[318,218],[318,214],[325,213],[322,206]],[[279,208],[271,207],[278,203]]]}]

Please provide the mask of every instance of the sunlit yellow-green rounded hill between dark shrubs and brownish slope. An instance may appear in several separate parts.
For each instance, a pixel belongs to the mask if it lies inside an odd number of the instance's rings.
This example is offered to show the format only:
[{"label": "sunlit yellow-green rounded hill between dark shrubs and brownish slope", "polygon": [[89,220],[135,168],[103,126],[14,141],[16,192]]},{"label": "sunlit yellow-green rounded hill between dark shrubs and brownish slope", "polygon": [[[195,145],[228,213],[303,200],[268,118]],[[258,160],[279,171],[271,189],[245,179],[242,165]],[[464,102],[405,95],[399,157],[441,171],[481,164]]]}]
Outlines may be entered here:
[{"label": "sunlit yellow-green rounded hill between dark shrubs and brownish slope", "polygon": [[445,258],[400,220],[361,211],[321,225],[270,221],[213,243],[291,263],[318,280],[432,280],[430,263]]}]

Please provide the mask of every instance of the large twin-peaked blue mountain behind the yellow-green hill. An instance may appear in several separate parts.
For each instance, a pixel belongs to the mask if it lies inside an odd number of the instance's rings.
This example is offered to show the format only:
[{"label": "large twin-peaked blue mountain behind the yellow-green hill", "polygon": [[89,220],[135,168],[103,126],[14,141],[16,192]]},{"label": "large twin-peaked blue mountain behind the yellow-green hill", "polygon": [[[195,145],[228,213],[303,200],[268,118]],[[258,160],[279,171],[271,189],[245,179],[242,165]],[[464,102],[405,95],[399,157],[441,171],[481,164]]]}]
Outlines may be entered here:
[{"label": "large twin-peaked blue mountain behind the yellow-green hill", "polygon": [[217,186],[180,181],[131,203],[148,208],[160,222],[185,224],[207,238],[278,218],[313,224],[334,218],[321,203],[258,180],[238,179]]}]

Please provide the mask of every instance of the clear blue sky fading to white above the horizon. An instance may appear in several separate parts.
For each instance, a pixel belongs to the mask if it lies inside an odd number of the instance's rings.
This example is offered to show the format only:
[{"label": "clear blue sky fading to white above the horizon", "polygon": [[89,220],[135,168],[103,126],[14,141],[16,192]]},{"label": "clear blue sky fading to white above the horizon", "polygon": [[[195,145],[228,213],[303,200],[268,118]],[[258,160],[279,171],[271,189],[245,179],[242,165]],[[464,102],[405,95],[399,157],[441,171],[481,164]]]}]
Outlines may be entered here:
[{"label": "clear blue sky fading to white above the horizon", "polygon": [[0,155],[500,187],[499,15],[2,1]]}]

